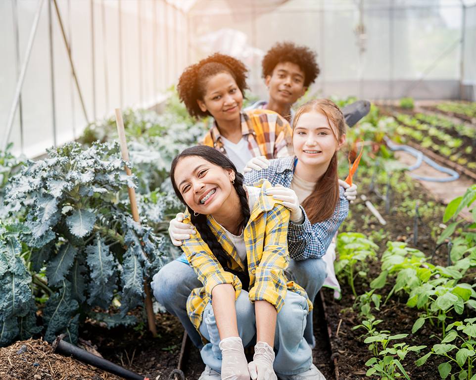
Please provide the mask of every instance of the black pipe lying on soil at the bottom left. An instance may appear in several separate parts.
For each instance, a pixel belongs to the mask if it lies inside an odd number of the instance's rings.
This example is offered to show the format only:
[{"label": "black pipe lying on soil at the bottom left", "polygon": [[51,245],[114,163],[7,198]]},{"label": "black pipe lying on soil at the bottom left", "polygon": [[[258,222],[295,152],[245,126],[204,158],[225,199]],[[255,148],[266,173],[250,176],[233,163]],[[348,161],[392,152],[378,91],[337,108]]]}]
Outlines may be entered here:
[{"label": "black pipe lying on soil at the bottom left", "polygon": [[117,364],[110,362],[109,360],[100,358],[83,350],[79,347],[76,347],[74,344],[65,342],[62,340],[61,335],[56,338],[52,344],[53,353],[61,354],[64,356],[72,356],[74,359],[79,360],[80,362],[90,364],[100,370],[110,372],[111,374],[120,376],[121,378],[127,380],[149,380],[148,378],[139,375],[135,372],[126,370],[124,367],[121,367]]}]

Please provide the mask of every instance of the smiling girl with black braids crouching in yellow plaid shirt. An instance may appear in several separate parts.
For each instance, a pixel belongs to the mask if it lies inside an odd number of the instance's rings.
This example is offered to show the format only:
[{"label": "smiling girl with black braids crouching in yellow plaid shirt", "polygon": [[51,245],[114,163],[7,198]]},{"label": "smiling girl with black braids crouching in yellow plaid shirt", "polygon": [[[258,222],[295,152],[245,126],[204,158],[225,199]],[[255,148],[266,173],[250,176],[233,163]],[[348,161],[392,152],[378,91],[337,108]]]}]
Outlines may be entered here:
[{"label": "smiling girl with black braids crouching in yellow plaid shirt", "polygon": [[[290,212],[266,194],[271,184],[243,187],[235,165],[208,146],[175,157],[170,176],[197,230],[183,249],[203,286],[187,310],[209,341],[201,350],[207,367],[221,379],[323,379],[303,338],[312,304],[284,274]],[[244,348],[253,344],[248,365]]]}]

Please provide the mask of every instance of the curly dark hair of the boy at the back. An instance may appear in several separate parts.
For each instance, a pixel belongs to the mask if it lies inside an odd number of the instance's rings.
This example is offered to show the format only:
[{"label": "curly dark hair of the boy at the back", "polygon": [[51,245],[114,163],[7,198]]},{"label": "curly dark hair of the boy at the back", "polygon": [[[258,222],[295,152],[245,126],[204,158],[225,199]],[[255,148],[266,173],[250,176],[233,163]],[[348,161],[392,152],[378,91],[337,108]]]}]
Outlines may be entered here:
[{"label": "curly dark hair of the boy at the back", "polygon": [[273,75],[273,70],[278,63],[291,62],[304,71],[304,87],[309,87],[320,73],[316,62],[317,54],[307,46],[299,46],[293,42],[278,42],[268,50],[263,58],[263,78]]}]

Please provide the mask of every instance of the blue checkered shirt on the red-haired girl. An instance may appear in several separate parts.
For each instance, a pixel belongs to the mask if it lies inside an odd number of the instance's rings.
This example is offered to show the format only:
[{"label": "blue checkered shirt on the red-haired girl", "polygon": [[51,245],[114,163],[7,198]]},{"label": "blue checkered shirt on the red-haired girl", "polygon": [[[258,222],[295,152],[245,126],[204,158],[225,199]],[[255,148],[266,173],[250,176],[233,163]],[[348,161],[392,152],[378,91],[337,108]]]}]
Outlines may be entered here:
[{"label": "blue checkered shirt on the red-haired girl", "polygon": [[[253,184],[259,180],[267,179],[274,186],[279,184],[289,188],[294,172],[295,158],[296,156],[291,156],[271,160],[268,169],[252,170],[245,173],[244,183]],[[289,222],[287,230],[289,257],[294,260],[322,257],[338,228],[349,214],[349,201],[344,196],[344,189],[339,186],[339,203],[333,215],[322,222],[311,225],[306,212],[302,206],[300,207],[304,214],[304,223],[299,225]]]}]

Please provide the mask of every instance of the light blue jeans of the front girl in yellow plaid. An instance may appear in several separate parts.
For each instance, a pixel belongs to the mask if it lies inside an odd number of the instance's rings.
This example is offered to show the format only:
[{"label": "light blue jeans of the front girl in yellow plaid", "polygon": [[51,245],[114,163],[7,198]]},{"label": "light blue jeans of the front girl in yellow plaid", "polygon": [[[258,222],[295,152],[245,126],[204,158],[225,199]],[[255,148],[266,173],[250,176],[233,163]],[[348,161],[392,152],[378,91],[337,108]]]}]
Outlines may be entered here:
[{"label": "light blue jeans of the front girl in yellow plaid", "polygon": [[[256,344],[255,309],[247,291],[241,290],[235,302],[235,308],[238,335],[243,342],[243,347]],[[309,306],[303,296],[292,291],[286,292],[285,304],[281,307],[276,319],[274,340],[276,358],[273,368],[277,374],[300,374],[311,367],[312,350],[302,337],[308,310]],[[200,351],[203,363],[220,372],[222,367],[222,352],[218,346],[220,334],[211,303],[205,307],[199,331],[210,341]]]}]

